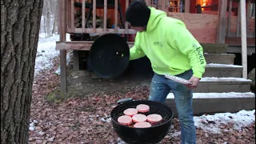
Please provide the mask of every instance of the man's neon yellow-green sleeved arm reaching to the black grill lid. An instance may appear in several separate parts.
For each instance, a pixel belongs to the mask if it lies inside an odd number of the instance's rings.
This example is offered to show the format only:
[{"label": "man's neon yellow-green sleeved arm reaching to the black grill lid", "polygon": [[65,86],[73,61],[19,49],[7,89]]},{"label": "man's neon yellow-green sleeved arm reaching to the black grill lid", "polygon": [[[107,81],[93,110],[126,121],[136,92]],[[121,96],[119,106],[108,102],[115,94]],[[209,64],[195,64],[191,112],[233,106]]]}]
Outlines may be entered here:
[{"label": "man's neon yellow-green sleeved arm reaching to the black grill lid", "polygon": [[130,60],[138,59],[144,57],[145,54],[142,48],[138,44],[138,38],[135,38],[134,46],[130,48]]}]

